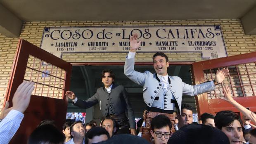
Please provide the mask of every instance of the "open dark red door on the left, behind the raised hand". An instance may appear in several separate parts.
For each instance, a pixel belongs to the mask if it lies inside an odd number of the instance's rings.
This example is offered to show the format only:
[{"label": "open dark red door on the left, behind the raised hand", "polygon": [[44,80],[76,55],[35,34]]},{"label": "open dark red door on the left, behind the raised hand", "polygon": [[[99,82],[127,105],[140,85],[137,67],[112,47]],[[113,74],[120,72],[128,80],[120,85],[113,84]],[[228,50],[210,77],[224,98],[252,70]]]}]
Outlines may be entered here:
[{"label": "open dark red door on the left, behind the raised hand", "polygon": [[26,40],[19,40],[5,101],[12,97],[24,81],[33,81],[35,90],[24,112],[24,119],[10,144],[26,144],[41,120],[55,120],[61,130],[65,123],[72,65]]}]

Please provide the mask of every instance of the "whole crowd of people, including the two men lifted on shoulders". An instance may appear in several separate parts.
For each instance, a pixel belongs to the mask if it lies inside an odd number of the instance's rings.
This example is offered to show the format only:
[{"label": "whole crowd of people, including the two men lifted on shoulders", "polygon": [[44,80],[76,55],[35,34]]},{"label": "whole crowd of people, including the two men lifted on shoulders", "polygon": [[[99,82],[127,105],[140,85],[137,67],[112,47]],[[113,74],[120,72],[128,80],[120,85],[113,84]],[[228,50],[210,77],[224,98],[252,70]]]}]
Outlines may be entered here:
[{"label": "whole crowd of people, including the two men lifted on shoulders", "polygon": [[[81,108],[99,104],[104,116],[100,124],[95,121],[85,124],[83,113],[67,113],[62,132],[54,121],[43,120],[31,133],[28,144],[256,144],[256,114],[232,98],[228,85],[223,87],[225,97],[221,99],[237,108],[244,115],[243,120],[237,113],[225,110],[214,115],[203,113],[199,123],[194,123],[192,106],[182,102],[183,94],[194,96],[214,90],[229,75],[228,69],[217,71],[214,80],[188,85],[177,76],[168,76],[168,57],[156,52],[153,55],[156,73],[140,73],[134,70],[135,53],[141,43],[137,39],[137,34],[130,37],[130,51],[124,66],[124,74],[143,87],[147,104],[137,123],[125,88],[114,83],[111,70],[103,70],[104,86],[89,99],[82,100],[72,91],[66,92],[72,104]],[[14,94],[13,106],[9,108],[6,102],[1,114],[0,144],[8,144],[18,130],[33,85],[23,82]]]}]

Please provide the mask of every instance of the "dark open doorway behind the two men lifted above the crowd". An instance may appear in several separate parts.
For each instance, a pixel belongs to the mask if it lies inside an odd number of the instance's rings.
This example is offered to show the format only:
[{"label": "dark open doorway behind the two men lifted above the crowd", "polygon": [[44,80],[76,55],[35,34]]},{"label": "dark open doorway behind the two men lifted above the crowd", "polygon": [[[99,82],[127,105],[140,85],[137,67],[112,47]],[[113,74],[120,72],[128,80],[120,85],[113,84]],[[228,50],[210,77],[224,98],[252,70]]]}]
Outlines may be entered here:
[{"label": "dark open doorway behind the two men lifted above the crowd", "polygon": [[[95,94],[97,88],[104,86],[101,80],[101,72],[104,69],[111,69],[115,76],[115,83],[123,85],[129,95],[130,102],[133,106],[135,118],[142,118],[143,111],[146,109],[146,104],[143,100],[142,86],[137,85],[130,79],[128,79],[123,73],[123,65],[107,65],[107,66],[73,66],[71,75],[71,87],[77,97],[80,99],[88,99]],[[184,83],[192,85],[191,77],[191,65],[171,65],[168,68],[168,75],[179,76]],[[135,70],[139,72],[150,71],[154,73],[152,65],[135,65]],[[195,109],[195,99],[190,96],[183,96],[183,102],[189,103]],[[68,112],[86,112],[86,121],[96,120],[100,122],[102,114],[100,112],[99,105],[96,104],[90,109],[81,109],[77,106],[73,106],[71,101],[68,104]]]}]

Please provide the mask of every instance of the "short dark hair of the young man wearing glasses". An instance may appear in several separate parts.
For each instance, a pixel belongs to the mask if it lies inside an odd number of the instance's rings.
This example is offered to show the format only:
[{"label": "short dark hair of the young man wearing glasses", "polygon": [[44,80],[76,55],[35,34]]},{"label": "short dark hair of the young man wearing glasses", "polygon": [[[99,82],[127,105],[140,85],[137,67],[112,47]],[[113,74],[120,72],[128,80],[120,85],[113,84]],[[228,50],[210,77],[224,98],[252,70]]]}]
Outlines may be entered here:
[{"label": "short dark hair of the young man wearing glasses", "polygon": [[151,121],[152,130],[154,130],[155,128],[160,129],[167,125],[169,126],[169,128],[171,130],[171,127],[172,127],[171,120],[165,115],[158,115],[158,116],[154,117]]}]

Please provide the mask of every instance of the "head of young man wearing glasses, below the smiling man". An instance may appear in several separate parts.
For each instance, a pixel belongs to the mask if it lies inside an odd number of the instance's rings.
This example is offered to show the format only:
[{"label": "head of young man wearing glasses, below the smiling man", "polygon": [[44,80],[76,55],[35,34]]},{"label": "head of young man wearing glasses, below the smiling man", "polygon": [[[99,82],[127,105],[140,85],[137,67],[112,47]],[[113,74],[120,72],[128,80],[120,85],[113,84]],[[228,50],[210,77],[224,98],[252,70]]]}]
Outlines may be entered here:
[{"label": "head of young man wearing glasses, below the smiling man", "polygon": [[154,144],[167,144],[171,137],[171,120],[165,115],[158,115],[151,122],[152,141]]}]

